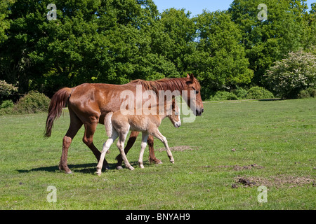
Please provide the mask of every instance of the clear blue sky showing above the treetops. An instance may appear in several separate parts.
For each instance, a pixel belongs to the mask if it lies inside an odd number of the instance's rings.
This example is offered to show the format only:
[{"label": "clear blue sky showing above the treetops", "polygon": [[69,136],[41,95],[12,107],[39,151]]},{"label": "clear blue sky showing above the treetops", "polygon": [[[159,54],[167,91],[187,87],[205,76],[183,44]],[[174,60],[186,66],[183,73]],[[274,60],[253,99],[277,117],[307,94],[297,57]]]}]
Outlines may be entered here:
[{"label": "clear blue sky showing above the treetops", "polygon": [[[309,8],[313,2],[315,2],[315,0],[307,1]],[[154,0],[154,3],[157,5],[159,12],[167,8],[185,8],[186,12],[190,10],[192,17],[201,14],[203,9],[210,10],[211,12],[226,10],[230,7],[232,0]]]}]

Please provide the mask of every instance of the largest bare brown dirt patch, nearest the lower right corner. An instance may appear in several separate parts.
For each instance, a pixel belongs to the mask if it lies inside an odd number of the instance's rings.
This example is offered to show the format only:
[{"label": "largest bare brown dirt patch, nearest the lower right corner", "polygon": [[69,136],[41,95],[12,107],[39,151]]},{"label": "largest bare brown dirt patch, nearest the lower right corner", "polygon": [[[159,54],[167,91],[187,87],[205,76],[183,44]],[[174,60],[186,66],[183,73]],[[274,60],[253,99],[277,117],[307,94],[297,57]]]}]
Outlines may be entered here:
[{"label": "largest bare brown dirt patch, nearest the lower right corner", "polygon": [[310,176],[269,176],[267,178],[260,176],[237,176],[235,183],[232,184],[232,188],[239,187],[254,187],[254,186],[266,186],[282,188],[294,188],[298,186],[310,185],[314,186],[315,180]]}]

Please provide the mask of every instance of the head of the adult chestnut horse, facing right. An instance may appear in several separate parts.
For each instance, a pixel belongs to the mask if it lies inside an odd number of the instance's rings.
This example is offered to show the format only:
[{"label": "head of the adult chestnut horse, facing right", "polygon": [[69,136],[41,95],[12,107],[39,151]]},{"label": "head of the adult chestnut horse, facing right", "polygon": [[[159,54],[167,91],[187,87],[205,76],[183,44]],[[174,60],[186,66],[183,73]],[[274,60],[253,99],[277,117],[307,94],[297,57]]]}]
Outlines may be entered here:
[{"label": "head of the adult chestnut horse, facing right", "polygon": [[182,93],[182,97],[187,102],[187,106],[193,111],[195,116],[202,116],[204,106],[201,98],[201,85],[193,74],[187,74],[187,87]]}]

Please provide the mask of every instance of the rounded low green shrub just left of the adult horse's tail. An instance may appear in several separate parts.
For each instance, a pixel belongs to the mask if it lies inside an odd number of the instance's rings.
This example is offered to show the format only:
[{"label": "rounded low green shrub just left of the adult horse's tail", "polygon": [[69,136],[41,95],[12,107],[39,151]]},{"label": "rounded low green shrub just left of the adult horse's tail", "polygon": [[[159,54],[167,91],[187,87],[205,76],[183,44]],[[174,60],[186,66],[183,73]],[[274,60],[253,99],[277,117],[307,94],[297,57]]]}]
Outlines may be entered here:
[{"label": "rounded low green shrub just left of the adult horse's tail", "polygon": [[39,92],[31,91],[20,98],[15,104],[14,111],[18,113],[39,113],[48,110],[51,99]]}]

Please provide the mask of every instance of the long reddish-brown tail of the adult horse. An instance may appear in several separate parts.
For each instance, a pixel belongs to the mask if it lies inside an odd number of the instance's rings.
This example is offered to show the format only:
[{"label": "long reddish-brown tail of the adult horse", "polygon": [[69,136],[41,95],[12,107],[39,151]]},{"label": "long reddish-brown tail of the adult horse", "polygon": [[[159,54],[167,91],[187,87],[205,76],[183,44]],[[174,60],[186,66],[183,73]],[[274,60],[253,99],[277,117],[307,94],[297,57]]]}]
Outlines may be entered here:
[{"label": "long reddish-brown tail of the adult horse", "polygon": [[65,87],[58,90],[51,98],[51,104],[48,108],[48,116],[46,119],[45,137],[51,137],[51,128],[53,127],[54,120],[59,118],[62,113],[62,107],[65,106],[67,100],[70,98],[72,89]]}]

